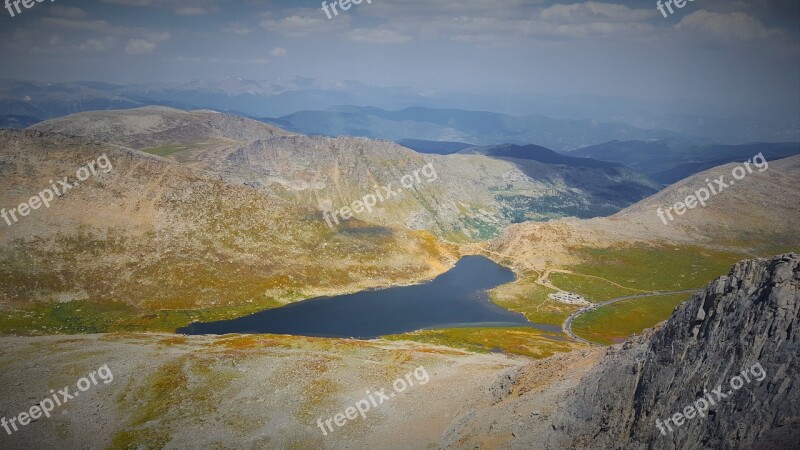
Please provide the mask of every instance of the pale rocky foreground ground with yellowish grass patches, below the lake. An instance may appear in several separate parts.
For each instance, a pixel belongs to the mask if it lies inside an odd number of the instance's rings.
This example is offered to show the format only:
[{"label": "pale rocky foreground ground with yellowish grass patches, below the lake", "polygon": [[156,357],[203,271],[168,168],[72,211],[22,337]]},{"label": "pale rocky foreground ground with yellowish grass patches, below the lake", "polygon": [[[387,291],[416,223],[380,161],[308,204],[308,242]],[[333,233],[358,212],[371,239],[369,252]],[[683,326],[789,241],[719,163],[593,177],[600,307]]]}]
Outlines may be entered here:
[{"label": "pale rocky foreground ground with yellowish grass patches, below the lake", "polygon": [[[102,381],[0,448],[436,448],[527,360],[408,342],[92,335],[0,339],[0,417],[108,365]],[[429,381],[323,435],[327,418],[418,367]],[[425,381],[425,377],[413,380]],[[376,398],[373,396],[373,398]],[[0,430],[2,431],[2,430]]]}]

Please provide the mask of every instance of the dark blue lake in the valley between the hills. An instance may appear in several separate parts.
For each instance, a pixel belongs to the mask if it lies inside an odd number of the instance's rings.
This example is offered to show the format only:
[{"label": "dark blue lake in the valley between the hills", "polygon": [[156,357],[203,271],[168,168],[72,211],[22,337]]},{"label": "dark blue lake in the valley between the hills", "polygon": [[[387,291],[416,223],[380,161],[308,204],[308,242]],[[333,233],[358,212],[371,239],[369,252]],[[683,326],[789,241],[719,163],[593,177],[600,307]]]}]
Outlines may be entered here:
[{"label": "dark blue lake in the valley between the hills", "polygon": [[489,300],[488,289],[515,278],[514,272],[488,258],[465,256],[453,269],[425,284],[320,297],[239,319],[193,323],[178,333],[372,339],[465,326],[532,326],[560,333],[559,327],[533,324]]}]

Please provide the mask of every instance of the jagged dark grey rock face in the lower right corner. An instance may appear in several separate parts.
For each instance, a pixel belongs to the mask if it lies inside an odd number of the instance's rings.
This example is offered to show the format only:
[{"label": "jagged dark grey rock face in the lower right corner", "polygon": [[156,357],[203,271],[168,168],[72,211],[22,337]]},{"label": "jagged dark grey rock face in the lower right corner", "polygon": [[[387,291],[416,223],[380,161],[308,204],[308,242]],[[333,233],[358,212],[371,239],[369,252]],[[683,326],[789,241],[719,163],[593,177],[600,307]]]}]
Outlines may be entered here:
[{"label": "jagged dark grey rock face in the lower right corner", "polygon": [[609,349],[549,448],[796,448],[800,255],[743,261],[666,324]]}]

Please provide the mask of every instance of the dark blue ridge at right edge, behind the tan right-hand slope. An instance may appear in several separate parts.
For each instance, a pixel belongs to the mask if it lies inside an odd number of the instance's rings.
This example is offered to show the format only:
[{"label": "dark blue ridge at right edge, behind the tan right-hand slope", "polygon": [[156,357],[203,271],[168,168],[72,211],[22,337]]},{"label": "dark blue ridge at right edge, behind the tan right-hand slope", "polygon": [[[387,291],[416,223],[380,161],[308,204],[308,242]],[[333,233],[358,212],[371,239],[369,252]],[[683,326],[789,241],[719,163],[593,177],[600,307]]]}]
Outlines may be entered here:
[{"label": "dark blue ridge at right edge, behind the tan right-hand slope", "polygon": [[584,147],[569,155],[614,161],[652,179],[671,184],[692,174],[729,162],[746,161],[758,153],[768,160],[800,154],[800,143],[703,145],[696,141],[612,141]]}]

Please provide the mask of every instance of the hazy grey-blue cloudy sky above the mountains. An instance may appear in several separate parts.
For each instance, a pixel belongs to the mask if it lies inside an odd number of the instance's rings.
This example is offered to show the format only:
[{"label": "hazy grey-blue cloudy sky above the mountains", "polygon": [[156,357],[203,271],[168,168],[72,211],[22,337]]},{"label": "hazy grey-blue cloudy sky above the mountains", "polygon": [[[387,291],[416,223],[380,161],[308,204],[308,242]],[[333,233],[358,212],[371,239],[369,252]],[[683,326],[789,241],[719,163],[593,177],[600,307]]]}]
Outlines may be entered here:
[{"label": "hazy grey-blue cloudy sky above the mountains", "polygon": [[225,76],[469,93],[800,104],[800,2],[54,0],[0,11],[0,77],[120,83]]}]

